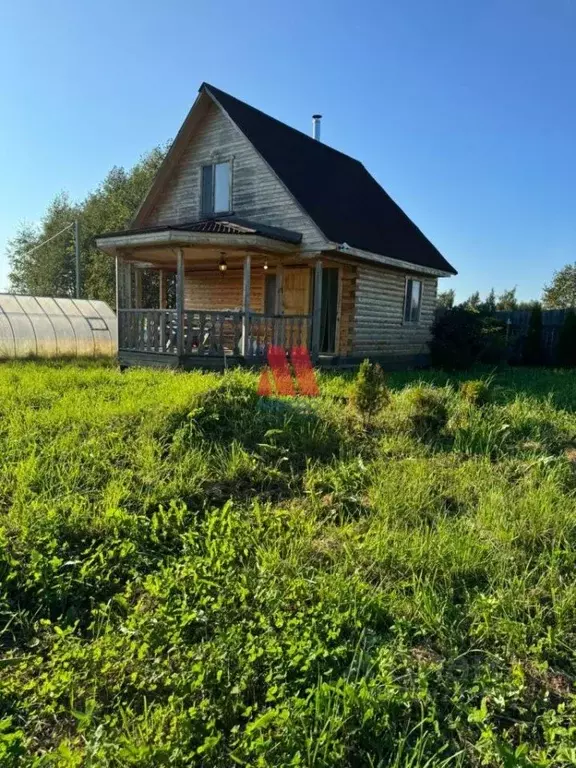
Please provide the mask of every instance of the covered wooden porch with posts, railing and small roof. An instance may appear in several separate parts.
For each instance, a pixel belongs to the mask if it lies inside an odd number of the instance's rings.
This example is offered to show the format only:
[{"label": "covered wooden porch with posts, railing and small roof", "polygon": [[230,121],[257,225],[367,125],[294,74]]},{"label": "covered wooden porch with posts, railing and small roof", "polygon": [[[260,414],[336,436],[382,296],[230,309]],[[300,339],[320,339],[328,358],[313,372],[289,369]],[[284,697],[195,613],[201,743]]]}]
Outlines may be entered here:
[{"label": "covered wooden porch with posts, railing and small roof", "polygon": [[121,365],[261,364],[271,345],[304,347],[314,360],[334,353],[320,254],[263,236],[155,244],[154,235],[131,248],[106,243],[116,257]]}]

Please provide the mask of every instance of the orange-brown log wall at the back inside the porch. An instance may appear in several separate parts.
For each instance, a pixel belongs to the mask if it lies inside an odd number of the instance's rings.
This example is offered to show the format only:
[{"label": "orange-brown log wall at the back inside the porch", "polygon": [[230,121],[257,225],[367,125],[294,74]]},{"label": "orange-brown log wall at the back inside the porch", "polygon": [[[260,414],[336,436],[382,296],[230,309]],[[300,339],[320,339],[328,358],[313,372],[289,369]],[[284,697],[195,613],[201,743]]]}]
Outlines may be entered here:
[{"label": "orange-brown log wall at the back inside the porch", "polygon": [[[252,269],[250,309],[264,312],[264,270]],[[242,311],[243,270],[228,269],[223,275],[215,270],[190,271],[184,279],[185,309],[206,312],[222,309]]]}]

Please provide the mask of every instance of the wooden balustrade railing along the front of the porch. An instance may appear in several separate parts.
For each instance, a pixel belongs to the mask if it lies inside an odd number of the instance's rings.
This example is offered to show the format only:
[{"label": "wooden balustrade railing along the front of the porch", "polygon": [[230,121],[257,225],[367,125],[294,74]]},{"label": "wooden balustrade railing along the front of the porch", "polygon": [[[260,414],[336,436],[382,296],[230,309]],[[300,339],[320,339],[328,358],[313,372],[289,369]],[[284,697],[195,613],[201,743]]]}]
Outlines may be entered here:
[{"label": "wooden balustrade railing along the front of the porch", "polygon": [[[182,317],[182,354],[240,355],[243,351],[242,312],[185,310]],[[262,358],[269,345],[310,348],[310,315],[263,315],[251,312],[246,354]],[[177,355],[178,315],[174,309],[121,309],[118,312],[119,349]]]}]

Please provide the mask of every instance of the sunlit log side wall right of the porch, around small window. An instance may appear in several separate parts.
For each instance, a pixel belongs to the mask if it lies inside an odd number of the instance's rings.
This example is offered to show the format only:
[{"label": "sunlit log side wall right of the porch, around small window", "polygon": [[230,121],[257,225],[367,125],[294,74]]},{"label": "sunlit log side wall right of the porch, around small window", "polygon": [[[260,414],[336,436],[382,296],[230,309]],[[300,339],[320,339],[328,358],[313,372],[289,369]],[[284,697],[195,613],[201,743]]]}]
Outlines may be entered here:
[{"label": "sunlit log side wall right of the porch, around small window", "polygon": [[[411,275],[412,276],[412,275]],[[354,355],[427,354],[434,320],[437,279],[413,275],[422,281],[419,323],[404,323],[407,273],[358,266],[355,286]]]}]

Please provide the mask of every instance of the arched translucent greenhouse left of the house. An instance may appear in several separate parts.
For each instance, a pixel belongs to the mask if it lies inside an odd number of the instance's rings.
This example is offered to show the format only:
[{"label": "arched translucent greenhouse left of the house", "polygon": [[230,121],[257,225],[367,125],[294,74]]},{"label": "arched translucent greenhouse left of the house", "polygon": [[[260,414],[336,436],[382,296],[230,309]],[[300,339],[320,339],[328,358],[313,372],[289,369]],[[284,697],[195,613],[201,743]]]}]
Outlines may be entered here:
[{"label": "arched translucent greenhouse left of the house", "polygon": [[0,294],[0,358],[116,354],[116,315],[103,301]]}]

